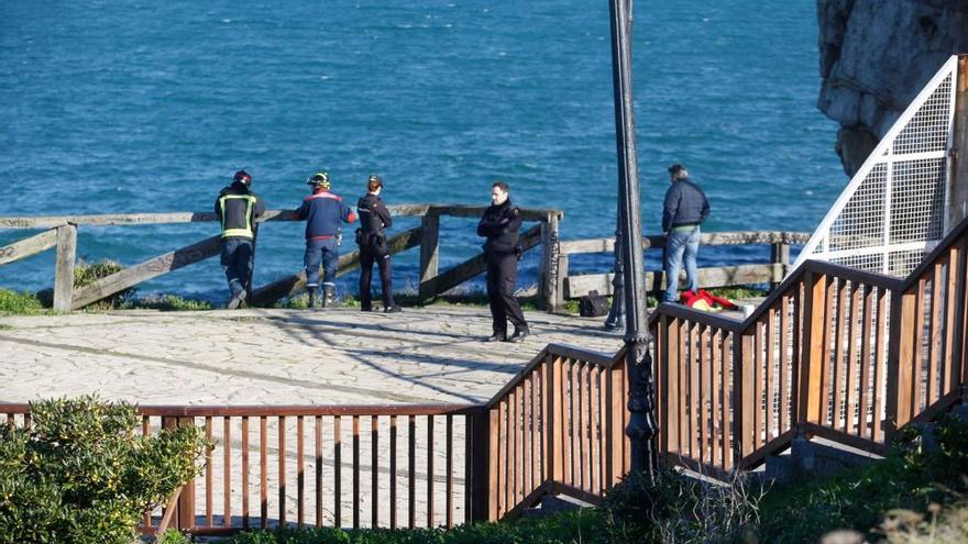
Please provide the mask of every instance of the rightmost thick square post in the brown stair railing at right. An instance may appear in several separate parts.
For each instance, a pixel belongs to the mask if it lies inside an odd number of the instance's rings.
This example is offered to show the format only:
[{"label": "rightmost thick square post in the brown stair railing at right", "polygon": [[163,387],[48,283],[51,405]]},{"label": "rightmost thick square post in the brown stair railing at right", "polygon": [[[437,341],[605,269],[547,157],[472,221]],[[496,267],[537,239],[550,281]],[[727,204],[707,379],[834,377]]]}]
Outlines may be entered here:
[{"label": "rightmost thick square post in the brown stair railing at right", "polygon": [[[884,438],[914,417],[914,337],[917,295],[891,291],[891,337],[888,338],[888,384],[884,393]],[[920,347],[920,346],[919,346]]]}]

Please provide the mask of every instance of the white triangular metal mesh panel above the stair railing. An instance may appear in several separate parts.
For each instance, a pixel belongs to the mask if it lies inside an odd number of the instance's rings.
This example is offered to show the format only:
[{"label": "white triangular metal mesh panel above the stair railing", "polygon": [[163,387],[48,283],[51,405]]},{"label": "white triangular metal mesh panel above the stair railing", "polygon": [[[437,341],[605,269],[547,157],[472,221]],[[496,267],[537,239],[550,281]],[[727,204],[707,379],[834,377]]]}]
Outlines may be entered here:
[{"label": "white triangular metal mesh panel above the stair railing", "polygon": [[813,233],[796,264],[904,277],[947,232],[957,56],[919,93]]}]

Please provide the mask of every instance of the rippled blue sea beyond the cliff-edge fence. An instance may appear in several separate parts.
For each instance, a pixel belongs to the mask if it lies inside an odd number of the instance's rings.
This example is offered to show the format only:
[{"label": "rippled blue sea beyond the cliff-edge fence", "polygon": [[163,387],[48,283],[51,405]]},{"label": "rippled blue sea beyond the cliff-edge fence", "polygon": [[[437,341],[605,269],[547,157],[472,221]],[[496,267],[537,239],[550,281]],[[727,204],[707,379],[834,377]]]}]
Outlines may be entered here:
[{"label": "rippled blue sea beyond the cliff-edge fence", "polygon": [[[351,202],[371,173],[387,203],[486,204],[505,179],[516,204],[564,210],[562,238],[614,233],[606,0],[10,0],[0,20],[0,215],[210,211],[240,168],[270,209],[292,209],[328,169]],[[646,232],[672,162],[708,193],[706,232],[813,230],[846,182],[815,106],[814,2],[640,0],[634,24]],[[441,269],[479,251],[474,226],[441,221]],[[217,232],[81,226],[78,256],[132,265]],[[0,231],[0,245],[30,234]],[[302,246],[298,223],[262,229],[255,285],[296,273]],[[700,265],[768,252],[711,247]],[[418,258],[395,257],[398,289],[415,288]],[[0,267],[0,287],[48,287],[53,260]],[[355,291],[355,274],[341,281]],[[140,292],[227,297],[217,258]]]}]

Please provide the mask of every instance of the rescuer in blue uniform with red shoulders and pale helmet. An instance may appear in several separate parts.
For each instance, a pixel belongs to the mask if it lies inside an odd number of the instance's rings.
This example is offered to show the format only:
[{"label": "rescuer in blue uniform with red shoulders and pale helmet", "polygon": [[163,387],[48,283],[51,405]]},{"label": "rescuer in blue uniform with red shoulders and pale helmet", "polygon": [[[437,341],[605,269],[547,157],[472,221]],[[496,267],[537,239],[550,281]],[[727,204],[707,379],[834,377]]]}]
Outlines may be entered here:
[{"label": "rescuer in blue uniform with red shoulders and pale helmet", "polygon": [[342,223],[356,221],[356,215],[342,197],[330,192],[329,173],[316,173],[306,184],[312,188],[312,195],[306,197],[296,210],[296,219],[306,220],[306,254],[302,258],[306,290],[309,291],[309,307],[319,308],[319,265],[322,263],[322,306],[328,307],[336,299]]}]

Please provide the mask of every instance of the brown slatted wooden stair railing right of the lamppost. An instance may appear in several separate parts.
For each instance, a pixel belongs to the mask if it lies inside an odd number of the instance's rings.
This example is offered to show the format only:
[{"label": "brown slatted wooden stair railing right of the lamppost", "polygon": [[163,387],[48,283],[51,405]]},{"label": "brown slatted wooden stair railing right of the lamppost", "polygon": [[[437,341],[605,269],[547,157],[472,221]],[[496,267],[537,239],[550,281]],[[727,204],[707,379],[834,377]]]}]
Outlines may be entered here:
[{"label": "brown slatted wooden stair railing right of the lamppost", "polygon": [[659,448],[708,474],[798,434],[872,453],[961,399],[968,222],[905,280],[806,262],[745,321],[673,304],[650,318]]}]

